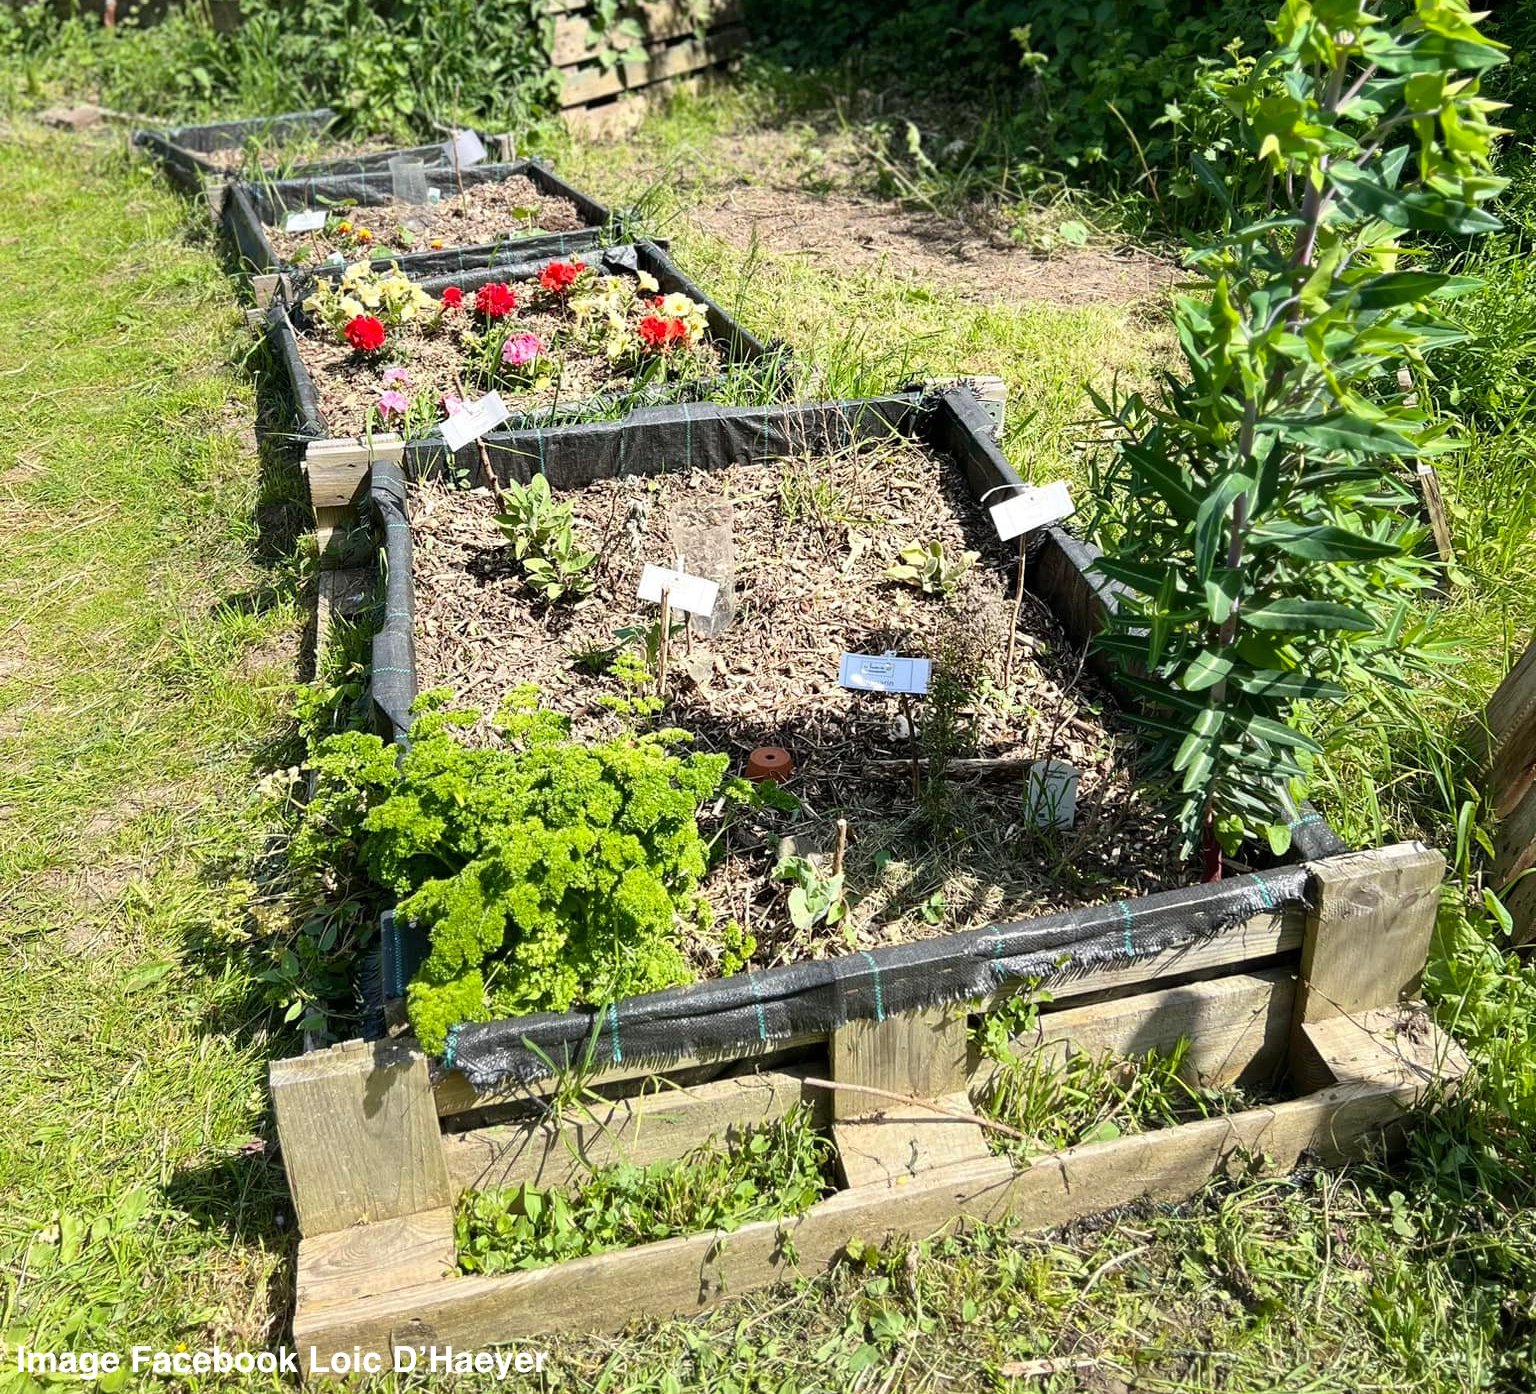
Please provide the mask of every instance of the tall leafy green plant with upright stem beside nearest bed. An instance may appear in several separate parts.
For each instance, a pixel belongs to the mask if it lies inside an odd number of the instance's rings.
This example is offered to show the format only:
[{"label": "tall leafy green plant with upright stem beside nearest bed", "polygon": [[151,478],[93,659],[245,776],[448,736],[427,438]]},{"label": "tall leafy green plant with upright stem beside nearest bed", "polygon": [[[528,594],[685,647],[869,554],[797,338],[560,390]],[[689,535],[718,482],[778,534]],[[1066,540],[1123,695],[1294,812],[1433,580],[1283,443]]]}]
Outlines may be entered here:
[{"label": "tall leafy green plant with upright stem beside nearest bed", "polygon": [[[1101,637],[1144,699],[1186,852],[1296,821],[1319,748],[1295,702],[1404,683],[1427,583],[1402,462],[1447,448],[1395,370],[1462,338],[1435,304],[1476,286],[1407,266],[1402,235],[1496,229],[1482,209],[1502,61],[1464,0],[1287,0],[1275,49],[1227,89],[1272,178],[1266,215],[1192,256],[1183,372],[1158,401],[1098,401],[1123,527],[1098,570],[1126,590]],[[1212,855],[1212,861],[1213,861]]]}]

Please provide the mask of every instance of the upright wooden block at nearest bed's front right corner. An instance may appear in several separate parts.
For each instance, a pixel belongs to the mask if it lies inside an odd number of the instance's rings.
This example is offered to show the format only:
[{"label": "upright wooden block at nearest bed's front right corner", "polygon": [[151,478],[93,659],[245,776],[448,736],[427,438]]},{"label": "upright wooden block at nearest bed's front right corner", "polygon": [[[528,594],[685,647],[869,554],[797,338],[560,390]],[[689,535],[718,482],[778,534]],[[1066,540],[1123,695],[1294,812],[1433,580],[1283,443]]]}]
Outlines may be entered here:
[{"label": "upright wooden block at nearest bed's front right corner", "polygon": [[1428,955],[1445,858],[1422,843],[1309,864],[1296,1022],[1358,1016],[1413,993]]}]

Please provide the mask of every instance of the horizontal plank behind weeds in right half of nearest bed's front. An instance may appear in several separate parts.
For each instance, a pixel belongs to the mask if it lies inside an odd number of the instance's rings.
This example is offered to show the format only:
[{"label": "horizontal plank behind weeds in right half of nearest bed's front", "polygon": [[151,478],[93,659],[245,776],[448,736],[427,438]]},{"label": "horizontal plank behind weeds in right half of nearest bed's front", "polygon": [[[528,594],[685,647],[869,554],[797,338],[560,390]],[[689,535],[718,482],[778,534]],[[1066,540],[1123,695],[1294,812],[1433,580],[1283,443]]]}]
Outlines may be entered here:
[{"label": "horizontal plank behind weeds in right half of nearest bed's front", "polygon": [[[1235,973],[1161,992],[1115,998],[1089,1007],[1041,1013],[1034,1032],[1015,1036],[1021,1053],[1143,1056],[1167,1053],[1189,1041],[1186,1070],[1201,1085],[1273,1082],[1286,1064],[1295,1010],[1293,969]],[[971,1076],[971,1093],[985,1092],[997,1073],[985,1061]]]}]

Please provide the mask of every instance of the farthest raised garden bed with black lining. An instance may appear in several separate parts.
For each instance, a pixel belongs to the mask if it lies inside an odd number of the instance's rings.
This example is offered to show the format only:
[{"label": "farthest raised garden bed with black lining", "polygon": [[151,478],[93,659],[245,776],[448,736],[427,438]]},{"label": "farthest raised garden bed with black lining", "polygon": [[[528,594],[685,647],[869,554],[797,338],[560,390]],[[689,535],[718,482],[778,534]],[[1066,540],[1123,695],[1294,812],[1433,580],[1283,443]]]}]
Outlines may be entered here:
[{"label": "farthest raised garden bed with black lining", "polygon": [[[209,121],[164,130],[135,130],[134,144],[154,155],[181,187],[198,192],[209,181],[358,175],[387,170],[398,157],[433,167],[452,166],[444,141],[401,147],[382,138],[346,140],[332,132],[336,114],[329,107],[253,117],[244,121]],[[510,149],[504,137],[481,137],[492,154]]]}]

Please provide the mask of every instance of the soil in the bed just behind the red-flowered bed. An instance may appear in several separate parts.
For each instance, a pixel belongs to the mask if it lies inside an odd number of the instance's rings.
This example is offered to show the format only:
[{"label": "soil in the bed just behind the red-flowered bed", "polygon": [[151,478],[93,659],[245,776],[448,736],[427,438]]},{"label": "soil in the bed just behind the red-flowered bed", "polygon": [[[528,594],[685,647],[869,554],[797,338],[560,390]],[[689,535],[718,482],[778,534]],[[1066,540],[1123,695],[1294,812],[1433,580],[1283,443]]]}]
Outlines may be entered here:
[{"label": "soil in the bed just behind the red-flowered bed", "polygon": [[452,172],[435,172],[432,178],[445,186],[438,203],[338,209],[347,212],[353,227],[367,229],[373,235],[367,244],[350,233],[339,235],[326,229],[284,232],[281,224],[267,227],[267,241],[283,261],[313,266],[333,252],[356,261],[425,252],[435,243],[442,247],[476,247],[541,232],[578,232],[585,226],[576,204],[568,198],[542,193],[527,175],[470,184],[462,193],[449,192],[453,186]]}]

